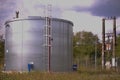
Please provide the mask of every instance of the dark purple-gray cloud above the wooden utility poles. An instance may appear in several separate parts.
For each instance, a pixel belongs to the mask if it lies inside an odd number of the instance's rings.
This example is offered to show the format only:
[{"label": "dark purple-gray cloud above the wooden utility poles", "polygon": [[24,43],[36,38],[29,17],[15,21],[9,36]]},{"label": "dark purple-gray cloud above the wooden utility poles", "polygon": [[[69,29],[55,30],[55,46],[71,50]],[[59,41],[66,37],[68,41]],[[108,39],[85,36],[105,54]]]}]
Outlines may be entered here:
[{"label": "dark purple-gray cloud above the wooden utility poles", "polygon": [[94,16],[120,17],[120,0],[96,0],[91,7],[75,6],[77,12],[88,11]]}]

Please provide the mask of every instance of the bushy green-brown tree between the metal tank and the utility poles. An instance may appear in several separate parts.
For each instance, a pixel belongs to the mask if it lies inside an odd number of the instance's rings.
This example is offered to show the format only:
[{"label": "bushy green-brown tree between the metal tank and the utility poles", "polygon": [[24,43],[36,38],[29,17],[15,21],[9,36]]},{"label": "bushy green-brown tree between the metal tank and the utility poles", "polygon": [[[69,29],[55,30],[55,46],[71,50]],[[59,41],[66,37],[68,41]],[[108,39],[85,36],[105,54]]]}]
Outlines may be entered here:
[{"label": "bushy green-brown tree between the metal tank and the utility poles", "polygon": [[[97,52],[101,52],[100,43],[98,42],[98,36],[92,32],[77,32],[73,39],[74,58],[80,58],[84,56],[94,57],[95,47],[99,47]],[[100,53],[99,53],[100,54]],[[100,56],[97,54],[98,56]]]}]

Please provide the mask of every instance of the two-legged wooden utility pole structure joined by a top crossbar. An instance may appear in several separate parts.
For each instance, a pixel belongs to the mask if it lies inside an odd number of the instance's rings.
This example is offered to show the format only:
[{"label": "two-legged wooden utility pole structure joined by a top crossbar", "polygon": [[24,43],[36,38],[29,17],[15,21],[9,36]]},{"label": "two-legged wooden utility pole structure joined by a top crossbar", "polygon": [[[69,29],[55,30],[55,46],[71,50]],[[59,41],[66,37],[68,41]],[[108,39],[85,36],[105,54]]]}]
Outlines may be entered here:
[{"label": "two-legged wooden utility pole structure joined by a top crossbar", "polygon": [[115,67],[115,46],[116,46],[116,17],[108,17],[102,19],[102,69],[105,67],[105,20],[113,20],[113,32],[112,32],[112,67]]}]

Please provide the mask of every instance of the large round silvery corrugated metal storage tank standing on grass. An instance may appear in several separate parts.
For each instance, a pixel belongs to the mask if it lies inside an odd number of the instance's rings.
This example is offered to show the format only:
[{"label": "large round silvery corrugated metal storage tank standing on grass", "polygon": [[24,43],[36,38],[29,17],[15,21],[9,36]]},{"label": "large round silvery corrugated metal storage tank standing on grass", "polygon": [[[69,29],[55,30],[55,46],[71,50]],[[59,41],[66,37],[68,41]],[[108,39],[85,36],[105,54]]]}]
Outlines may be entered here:
[{"label": "large round silvery corrugated metal storage tank standing on grass", "polygon": [[[48,71],[45,44],[45,18],[14,19],[5,24],[6,71]],[[50,71],[72,71],[73,23],[52,18]]]}]

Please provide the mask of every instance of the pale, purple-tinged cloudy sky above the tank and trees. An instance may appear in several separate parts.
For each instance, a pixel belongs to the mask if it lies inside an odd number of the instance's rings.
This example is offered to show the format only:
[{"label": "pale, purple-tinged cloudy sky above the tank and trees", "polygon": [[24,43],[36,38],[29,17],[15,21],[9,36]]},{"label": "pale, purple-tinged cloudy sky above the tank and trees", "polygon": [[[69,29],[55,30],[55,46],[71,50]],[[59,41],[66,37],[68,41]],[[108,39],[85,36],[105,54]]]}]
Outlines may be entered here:
[{"label": "pale, purple-tinged cloudy sky above the tank and trees", "polygon": [[[120,0],[0,0],[0,26],[6,20],[15,17],[44,16],[45,5],[52,5],[52,17],[70,20],[74,23],[74,32],[91,31],[101,37],[103,17],[116,16],[120,25]],[[112,21],[106,22],[106,31],[112,29]],[[120,28],[117,28],[120,31]]]}]

